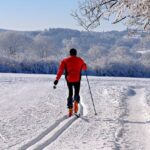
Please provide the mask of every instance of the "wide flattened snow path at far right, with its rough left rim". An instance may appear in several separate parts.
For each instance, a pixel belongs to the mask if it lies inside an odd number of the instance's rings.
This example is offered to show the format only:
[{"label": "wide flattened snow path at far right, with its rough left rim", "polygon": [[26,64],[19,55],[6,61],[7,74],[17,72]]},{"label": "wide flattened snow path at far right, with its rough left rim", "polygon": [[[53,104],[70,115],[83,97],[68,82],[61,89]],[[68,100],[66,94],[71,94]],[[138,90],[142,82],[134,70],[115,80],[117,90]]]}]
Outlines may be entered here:
[{"label": "wide flattened snow path at far right, with its rough left rim", "polygon": [[121,102],[119,126],[114,133],[116,150],[150,149],[150,108],[145,95],[145,88],[127,88],[126,101]]}]

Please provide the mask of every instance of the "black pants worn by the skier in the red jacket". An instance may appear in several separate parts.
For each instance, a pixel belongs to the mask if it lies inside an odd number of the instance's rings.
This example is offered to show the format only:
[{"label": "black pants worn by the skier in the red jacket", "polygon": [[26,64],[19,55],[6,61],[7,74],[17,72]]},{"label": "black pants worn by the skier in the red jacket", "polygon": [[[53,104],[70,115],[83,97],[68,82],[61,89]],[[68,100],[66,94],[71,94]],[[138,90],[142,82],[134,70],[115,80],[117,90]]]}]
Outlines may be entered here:
[{"label": "black pants worn by the skier in the red jacket", "polygon": [[[73,107],[73,101],[80,102],[80,82],[67,82],[68,90],[69,90],[69,96],[67,99],[67,106],[68,108]],[[73,95],[73,89],[74,89],[74,95]],[[74,96],[74,97],[73,97]]]}]

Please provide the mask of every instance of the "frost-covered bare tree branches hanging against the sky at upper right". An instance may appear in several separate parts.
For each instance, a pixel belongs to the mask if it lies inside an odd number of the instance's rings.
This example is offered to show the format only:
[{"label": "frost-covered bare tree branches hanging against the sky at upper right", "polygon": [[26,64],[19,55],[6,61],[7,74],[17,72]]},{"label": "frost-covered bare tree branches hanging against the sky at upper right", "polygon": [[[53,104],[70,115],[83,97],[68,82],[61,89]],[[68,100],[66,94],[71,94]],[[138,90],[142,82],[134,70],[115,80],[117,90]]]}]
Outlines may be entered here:
[{"label": "frost-covered bare tree branches hanging against the sky at upper right", "polygon": [[103,19],[150,30],[150,0],[84,0],[72,15],[87,30],[98,27]]}]

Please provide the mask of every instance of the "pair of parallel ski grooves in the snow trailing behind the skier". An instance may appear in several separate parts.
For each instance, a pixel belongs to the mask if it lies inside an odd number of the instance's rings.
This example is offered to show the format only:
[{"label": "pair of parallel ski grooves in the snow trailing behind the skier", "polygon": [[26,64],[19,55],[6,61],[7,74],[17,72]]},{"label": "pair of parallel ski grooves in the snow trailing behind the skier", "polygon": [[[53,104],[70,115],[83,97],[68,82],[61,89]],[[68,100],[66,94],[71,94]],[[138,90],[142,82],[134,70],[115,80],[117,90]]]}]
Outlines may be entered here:
[{"label": "pair of parallel ski grooves in the snow trailing behind the skier", "polygon": [[[83,102],[82,102],[83,103]],[[82,104],[80,104],[80,114],[83,115]],[[29,141],[27,144],[23,145],[20,150],[43,150],[49,146],[52,142],[57,140],[57,138],[63,134],[78,118],[73,116],[68,118],[63,116],[57,120],[51,127],[42,132],[38,137]]]}]

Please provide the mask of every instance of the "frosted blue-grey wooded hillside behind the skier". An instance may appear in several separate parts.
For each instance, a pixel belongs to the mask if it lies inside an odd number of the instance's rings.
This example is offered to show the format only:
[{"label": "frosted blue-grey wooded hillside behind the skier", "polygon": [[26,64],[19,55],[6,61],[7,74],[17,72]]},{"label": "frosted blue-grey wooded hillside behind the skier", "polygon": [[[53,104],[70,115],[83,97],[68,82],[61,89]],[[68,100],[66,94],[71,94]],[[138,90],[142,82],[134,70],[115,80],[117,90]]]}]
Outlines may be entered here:
[{"label": "frosted blue-grey wooded hillside behind the skier", "polygon": [[96,76],[150,77],[150,36],[128,31],[0,30],[0,72],[55,74],[70,48]]}]

